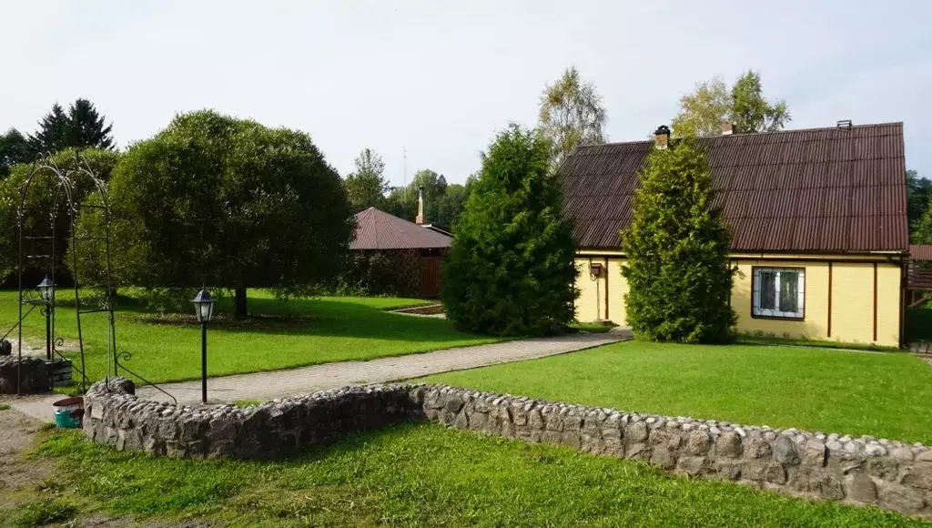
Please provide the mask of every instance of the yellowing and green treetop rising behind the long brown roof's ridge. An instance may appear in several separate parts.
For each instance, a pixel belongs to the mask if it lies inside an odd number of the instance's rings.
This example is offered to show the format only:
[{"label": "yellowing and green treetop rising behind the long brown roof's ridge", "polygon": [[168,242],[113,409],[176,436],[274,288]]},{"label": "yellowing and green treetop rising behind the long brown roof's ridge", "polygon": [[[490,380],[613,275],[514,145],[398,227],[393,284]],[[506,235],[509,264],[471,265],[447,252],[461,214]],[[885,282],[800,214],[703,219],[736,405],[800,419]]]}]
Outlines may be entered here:
[{"label": "yellowing and green treetop rising behind the long brown roof's ridge", "polygon": [[733,124],[734,132],[774,132],[783,129],[790,115],[785,101],[768,102],[763,96],[761,75],[748,70],[731,88],[716,76],[696,85],[679,99],[673,118],[678,136],[709,136],[721,133],[722,121]]}]

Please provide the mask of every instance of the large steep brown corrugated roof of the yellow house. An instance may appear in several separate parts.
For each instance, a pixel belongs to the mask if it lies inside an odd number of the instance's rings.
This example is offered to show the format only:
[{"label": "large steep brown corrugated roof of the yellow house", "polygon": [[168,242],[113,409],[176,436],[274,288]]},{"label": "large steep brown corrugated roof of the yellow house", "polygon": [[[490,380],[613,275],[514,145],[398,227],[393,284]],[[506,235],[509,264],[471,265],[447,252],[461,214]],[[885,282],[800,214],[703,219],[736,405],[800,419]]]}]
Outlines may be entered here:
[{"label": "large steep brown corrugated roof of the yellow house", "polygon": [[[701,138],[733,251],[907,251],[903,124]],[[653,141],[580,146],[560,168],[581,247],[617,248]]]}]

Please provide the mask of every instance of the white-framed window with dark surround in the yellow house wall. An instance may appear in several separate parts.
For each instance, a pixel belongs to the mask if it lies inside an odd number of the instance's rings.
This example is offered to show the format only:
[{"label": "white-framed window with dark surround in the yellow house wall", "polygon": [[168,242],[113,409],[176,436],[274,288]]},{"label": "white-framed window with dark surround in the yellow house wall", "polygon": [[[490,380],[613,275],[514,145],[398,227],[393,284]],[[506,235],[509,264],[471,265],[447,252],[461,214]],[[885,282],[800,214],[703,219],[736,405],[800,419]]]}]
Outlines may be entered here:
[{"label": "white-framed window with dark surround in the yellow house wall", "polygon": [[802,268],[754,268],[755,317],[802,319],[806,271]]}]

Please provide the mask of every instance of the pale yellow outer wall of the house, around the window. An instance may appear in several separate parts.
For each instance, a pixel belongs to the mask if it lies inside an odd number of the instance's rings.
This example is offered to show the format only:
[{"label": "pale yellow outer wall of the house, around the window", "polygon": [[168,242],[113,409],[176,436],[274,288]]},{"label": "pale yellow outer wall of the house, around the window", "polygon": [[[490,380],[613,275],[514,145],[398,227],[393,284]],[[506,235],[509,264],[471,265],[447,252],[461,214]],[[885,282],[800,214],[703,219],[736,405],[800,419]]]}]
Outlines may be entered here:
[{"label": "pale yellow outer wall of the house, around the window", "polygon": [[[590,262],[605,266],[608,258],[608,291],[606,277],[598,281],[589,274]],[[611,255],[599,257],[580,255],[576,265],[580,270],[576,285],[581,296],[576,301],[580,321],[605,318],[605,300],[609,300],[609,319],[626,325],[624,294],[627,282],[622,276],[626,259]],[[829,336],[829,263],[827,261],[780,259],[749,259],[738,257],[738,268],[732,289],[732,308],[738,316],[736,329],[746,334],[761,334],[792,339],[829,339],[852,343],[876,343],[884,346],[899,344],[900,270],[895,264],[877,265],[877,339],[874,340],[874,264],[875,262],[838,262],[831,265],[831,335]],[[751,316],[752,268],[802,268],[805,270],[804,315],[802,321],[765,319]],[[596,284],[598,286],[596,297]]]}]

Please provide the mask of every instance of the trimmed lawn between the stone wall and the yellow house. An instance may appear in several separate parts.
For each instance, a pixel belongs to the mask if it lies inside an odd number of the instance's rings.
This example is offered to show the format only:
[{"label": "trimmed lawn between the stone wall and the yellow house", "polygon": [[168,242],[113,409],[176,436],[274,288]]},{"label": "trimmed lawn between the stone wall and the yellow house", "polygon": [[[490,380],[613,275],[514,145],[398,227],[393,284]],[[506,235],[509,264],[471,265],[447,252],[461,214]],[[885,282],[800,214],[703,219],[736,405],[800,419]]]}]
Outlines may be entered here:
[{"label": "trimmed lawn between the stone wall and the yellow house", "polygon": [[422,381],[620,410],[932,443],[932,368],[910,354],[626,341]]}]

